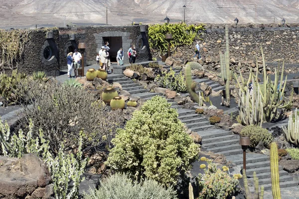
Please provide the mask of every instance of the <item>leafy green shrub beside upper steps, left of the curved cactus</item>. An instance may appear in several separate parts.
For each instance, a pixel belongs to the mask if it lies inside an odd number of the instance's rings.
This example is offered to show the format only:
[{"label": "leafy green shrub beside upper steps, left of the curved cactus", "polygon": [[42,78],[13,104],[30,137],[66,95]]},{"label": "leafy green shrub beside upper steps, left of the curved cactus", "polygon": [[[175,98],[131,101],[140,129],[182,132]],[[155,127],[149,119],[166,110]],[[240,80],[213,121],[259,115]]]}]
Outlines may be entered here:
[{"label": "leafy green shrub beside upper steps, left of the curved cactus", "polygon": [[182,75],[182,72],[177,75],[174,74],[175,72],[170,68],[169,72],[162,72],[161,75],[157,75],[154,81],[162,88],[176,92],[186,92],[185,77]]}]

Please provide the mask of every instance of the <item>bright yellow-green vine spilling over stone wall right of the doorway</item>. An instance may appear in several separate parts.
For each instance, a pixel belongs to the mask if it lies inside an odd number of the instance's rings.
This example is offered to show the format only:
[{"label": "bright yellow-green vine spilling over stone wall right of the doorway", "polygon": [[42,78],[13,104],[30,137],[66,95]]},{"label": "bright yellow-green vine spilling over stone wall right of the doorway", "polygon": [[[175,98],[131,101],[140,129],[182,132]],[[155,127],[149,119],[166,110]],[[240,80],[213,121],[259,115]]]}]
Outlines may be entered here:
[{"label": "bright yellow-green vine spilling over stone wall right of the doorway", "polygon": [[199,30],[204,30],[205,24],[187,25],[185,23],[164,23],[149,25],[149,47],[159,51],[164,55],[168,51],[168,41],[165,38],[166,33],[172,34],[170,48],[173,50],[177,46],[191,46],[194,39],[199,39]]}]

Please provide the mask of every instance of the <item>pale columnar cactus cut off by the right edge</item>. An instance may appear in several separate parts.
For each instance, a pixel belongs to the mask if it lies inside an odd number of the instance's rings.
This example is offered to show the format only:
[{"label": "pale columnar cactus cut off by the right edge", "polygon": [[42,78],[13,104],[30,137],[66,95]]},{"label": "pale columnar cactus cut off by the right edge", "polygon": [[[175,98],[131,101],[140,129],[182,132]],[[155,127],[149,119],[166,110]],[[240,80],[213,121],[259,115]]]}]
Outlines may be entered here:
[{"label": "pale columnar cactus cut off by the right edge", "polygon": [[[293,121],[293,115],[295,114],[295,121]],[[288,128],[283,126],[284,132],[286,134],[287,141],[296,147],[299,146],[299,116],[297,112],[297,108],[295,112],[291,112],[289,117],[289,125]]]}]

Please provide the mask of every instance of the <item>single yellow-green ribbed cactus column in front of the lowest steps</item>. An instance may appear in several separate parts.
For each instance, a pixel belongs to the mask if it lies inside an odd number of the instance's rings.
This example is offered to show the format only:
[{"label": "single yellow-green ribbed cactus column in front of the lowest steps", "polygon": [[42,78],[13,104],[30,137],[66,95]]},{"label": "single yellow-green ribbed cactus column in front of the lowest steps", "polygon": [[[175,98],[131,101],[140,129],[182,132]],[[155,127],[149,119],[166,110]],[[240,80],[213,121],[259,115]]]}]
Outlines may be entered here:
[{"label": "single yellow-green ribbed cactus column in front of the lowest steps", "polygon": [[281,199],[280,185],[279,185],[278,149],[277,149],[277,144],[275,142],[272,142],[270,148],[270,167],[271,167],[273,198]]}]

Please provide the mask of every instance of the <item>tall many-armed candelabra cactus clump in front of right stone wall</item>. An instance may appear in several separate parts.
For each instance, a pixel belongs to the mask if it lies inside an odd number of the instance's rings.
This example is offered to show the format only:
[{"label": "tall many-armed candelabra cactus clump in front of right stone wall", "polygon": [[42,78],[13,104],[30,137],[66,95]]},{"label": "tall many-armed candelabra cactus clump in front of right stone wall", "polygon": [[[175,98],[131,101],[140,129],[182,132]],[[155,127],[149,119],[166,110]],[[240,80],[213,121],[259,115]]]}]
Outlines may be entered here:
[{"label": "tall many-armed candelabra cactus clump in front of right stone wall", "polygon": [[[285,89],[286,89],[287,82],[283,81],[285,63],[283,63],[280,81],[279,81],[279,74],[277,72],[277,69],[275,69],[275,81],[273,82],[271,81],[270,76],[267,75],[266,62],[265,62],[265,57],[264,57],[262,47],[261,47],[261,52],[263,58],[263,85],[260,85],[261,91],[259,93],[261,95],[262,98],[261,102],[263,104],[263,122],[271,122],[274,118],[279,118],[280,116],[282,116],[281,112],[279,113],[277,109],[285,108],[292,102],[293,92],[289,101],[287,101],[285,99]],[[256,62],[256,64],[258,66],[258,61]],[[240,75],[241,82],[239,82],[237,74],[234,73],[234,77],[238,84],[239,90],[241,91],[241,93],[244,93],[245,96],[251,95],[250,94],[251,91],[249,90],[248,85],[252,82],[253,88],[257,88],[259,86],[258,70],[256,72],[256,75],[252,71],[250,71],[249,79],[247,82],[244,81],[241,70],[239,70],[239,75]],[[244,102],[241,101],[241,103]],[[246,106],[246,104],[243,104],[243,106],[251,109],[250,112],[254,112],[255,109],[252,108],[251,106],[252,103],[253,102],[250,100],[248,104],[249,106]],[[260,119],[258,118],[257,120]],[[249,125],[249,123],[246,124]]]}]

